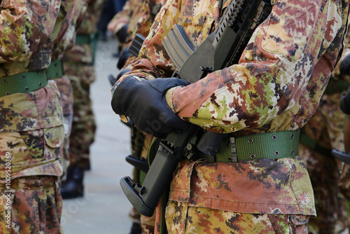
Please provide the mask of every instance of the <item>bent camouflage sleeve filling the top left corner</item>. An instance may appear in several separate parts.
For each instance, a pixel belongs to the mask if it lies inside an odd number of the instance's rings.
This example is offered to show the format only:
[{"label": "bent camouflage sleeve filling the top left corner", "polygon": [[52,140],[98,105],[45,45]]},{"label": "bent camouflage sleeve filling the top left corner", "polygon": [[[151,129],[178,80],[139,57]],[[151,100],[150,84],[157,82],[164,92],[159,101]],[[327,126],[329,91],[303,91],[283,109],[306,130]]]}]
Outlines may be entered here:
[{"label": "bent camouflage sleeve filling the top left corner", "polygon": [[0,62],[35,55],[52,33],[60,4],[60,0],[1,1]]}]

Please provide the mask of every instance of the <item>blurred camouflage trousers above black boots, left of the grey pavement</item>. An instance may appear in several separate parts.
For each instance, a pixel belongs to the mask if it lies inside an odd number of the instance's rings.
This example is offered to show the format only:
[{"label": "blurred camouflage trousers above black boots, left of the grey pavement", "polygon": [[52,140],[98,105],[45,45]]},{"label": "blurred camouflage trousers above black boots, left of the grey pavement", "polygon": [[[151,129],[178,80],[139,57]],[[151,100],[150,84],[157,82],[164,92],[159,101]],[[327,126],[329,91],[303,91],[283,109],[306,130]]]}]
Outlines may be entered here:
[{"label": "blurred camouflage trousers above black boots, left of the grey pavement", "polygon": [[73,88],[73,121],[69,138],[71,165],[85,167],[90,162],[96,123],[90,99],[90,85],[95,80],[94,67],[85,63],[64,63],[64,74]]}]

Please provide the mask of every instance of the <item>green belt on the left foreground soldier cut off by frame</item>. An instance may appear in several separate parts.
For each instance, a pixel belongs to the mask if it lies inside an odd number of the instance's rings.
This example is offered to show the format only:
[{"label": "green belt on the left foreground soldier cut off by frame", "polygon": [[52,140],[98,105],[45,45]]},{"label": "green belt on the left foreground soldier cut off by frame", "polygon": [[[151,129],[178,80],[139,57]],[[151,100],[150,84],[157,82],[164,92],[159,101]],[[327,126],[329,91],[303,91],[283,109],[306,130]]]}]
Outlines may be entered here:
[{"label": "green belt on the left foreground soldier cut off by frame", "polygon": [[46,71],[27,71],[0,78],[0,97],[17,92],[27,93],[43,88],[48,84]]}]

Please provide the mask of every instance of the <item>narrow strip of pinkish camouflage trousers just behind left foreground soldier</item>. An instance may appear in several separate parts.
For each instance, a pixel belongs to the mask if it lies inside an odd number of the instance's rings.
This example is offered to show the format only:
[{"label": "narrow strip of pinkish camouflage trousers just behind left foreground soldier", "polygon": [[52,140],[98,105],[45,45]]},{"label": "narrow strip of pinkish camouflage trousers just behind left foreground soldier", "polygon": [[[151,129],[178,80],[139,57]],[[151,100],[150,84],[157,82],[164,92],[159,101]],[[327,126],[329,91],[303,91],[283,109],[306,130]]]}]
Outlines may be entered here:
[{"label": "narrow strip of pinkish camouflage trousers just behind left foreground soldier", "polygon": [[64,142],[62,145],[62,167],[63,175],[69,166],[69,137],[71,135],[71,123],[73,119],[73,91],[71,88],[71,81],[66,76],[55,78],[59,94],[61,95],[63,117],[64,117]]}]

